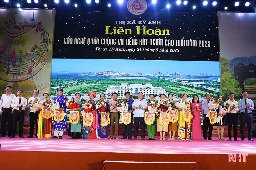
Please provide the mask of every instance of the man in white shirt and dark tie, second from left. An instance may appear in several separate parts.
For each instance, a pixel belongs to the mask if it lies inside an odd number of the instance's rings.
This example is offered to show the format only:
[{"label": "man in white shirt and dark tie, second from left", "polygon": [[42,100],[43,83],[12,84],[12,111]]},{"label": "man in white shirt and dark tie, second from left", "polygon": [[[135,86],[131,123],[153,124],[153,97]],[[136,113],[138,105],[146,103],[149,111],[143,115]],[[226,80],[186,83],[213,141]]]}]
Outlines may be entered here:
[{"label": "man in white shirt and dark tie, second from left", "polygon": [[23,124],[25,117],[25,109],[27,108],[27,99],[22,97],[23,90],[19,89],[17,91],[17,97],[12,99],[11,107],[13,108],[12,114],[12,135],[11,138],[15,137],[17,123],[19,121],[19,137],[24,138],[23,136]]}]

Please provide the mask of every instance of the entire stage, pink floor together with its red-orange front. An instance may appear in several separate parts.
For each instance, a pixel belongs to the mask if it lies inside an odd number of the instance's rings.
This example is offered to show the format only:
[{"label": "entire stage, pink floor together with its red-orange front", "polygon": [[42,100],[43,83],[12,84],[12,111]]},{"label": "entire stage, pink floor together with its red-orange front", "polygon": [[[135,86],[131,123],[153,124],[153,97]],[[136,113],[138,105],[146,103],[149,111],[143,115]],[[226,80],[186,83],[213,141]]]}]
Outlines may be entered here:
[{"label": "entire stage, pink floor together with its red-orange front", "polygon": [[[244,169],[255,141],[0,138],[1,169]],[[234,155],[229,155],[234,154]],[[242,154],[242,155],[241,155]],[[248,154],[248,156],[247,156]],[[229,155],[229,159],[228,159]],[[235,157],[242,157],[236,159]],[[233,159],[232,159],[233,158]],[[15,160],[15,162],[13,162]],[[228,162],[229,160],[229,162]],[[236,160],[237,162],[234,162]],[[132,162],[131,162],[132,161]]]}]

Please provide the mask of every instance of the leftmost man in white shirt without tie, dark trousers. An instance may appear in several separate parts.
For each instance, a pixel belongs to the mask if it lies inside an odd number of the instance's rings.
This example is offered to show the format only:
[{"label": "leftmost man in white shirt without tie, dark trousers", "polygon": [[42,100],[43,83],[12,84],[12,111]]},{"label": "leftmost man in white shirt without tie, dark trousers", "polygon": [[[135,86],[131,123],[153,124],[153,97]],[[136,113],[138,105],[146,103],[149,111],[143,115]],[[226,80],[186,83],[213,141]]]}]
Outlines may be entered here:
[{"label": "leftmost man in white shirt without tie, dark trousers", "polygon": [[5,86],[6,93],[1,96],[0,100],[0,116],[2,116],[1,119],[1,127],[0,127],[0,137],[5,137],[5,125],[6,120],[8,120],[8,136],[10,137],[12,135],[12,99],[16,96],[11,93],[12,86],[7,85]]}]

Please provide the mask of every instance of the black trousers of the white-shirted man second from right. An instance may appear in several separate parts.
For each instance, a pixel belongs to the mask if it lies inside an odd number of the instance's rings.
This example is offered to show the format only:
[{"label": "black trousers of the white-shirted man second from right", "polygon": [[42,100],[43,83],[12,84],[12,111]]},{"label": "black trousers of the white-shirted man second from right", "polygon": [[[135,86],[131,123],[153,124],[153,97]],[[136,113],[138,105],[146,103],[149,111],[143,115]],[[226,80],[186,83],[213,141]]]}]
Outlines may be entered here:
[{"label": "black trousers of the white-shirted man second from right", "polygon": [[238,121],[237,113],[228,113],[227,114],[229,139],[232,138],[232,135],[231,135],[232,125],[233,125],[233,136],[234,136],[234,139],[237,139],[237,121]]}]

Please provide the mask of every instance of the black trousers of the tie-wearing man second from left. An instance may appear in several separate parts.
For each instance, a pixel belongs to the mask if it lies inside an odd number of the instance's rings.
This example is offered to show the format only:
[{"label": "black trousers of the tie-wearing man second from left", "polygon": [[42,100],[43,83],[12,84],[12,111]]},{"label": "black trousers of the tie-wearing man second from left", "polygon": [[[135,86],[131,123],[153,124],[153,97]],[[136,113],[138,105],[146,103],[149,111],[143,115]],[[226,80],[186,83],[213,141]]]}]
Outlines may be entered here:
[{"label": "black trousers of the tie-wearing man second from left", "polygon": [[12,136],[15,137],[17,123],[19,121],[19,137],[23,136],[23,124],[24,124],[25,112],[24,110],[14,110],[12,113]]}]

